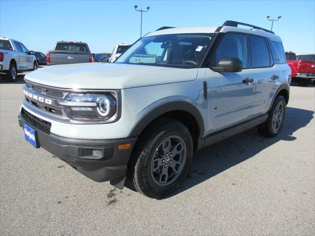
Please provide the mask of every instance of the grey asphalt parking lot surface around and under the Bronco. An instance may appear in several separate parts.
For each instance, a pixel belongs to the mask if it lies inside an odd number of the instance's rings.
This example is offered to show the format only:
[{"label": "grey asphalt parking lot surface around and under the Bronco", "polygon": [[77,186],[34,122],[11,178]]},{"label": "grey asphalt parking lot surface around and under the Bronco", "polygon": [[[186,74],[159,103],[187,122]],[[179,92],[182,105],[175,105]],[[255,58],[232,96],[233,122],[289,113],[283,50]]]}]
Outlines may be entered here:
[{"label": "grey asphalt parking lot surface around and under the Bronco", "polygon": [[0,82],[0,235],[314,235],[315,87],[291,87],[281,134],[202,149],[162,200],[79,174],[24,140],[23,76]]}]

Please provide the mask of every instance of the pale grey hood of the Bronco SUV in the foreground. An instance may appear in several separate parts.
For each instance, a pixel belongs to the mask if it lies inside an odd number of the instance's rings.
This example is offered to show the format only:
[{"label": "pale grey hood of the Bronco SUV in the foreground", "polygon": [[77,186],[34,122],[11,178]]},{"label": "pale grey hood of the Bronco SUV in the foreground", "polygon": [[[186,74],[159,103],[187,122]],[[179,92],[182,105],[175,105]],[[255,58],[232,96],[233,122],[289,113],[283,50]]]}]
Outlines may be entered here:
[{"label": "pale grey hood of the Bronco SUV in the foreground", "polygon": [[27,74],[25,79],[64,89],[129,89],[191,81],[197,74],[197,68],[95,62],[46,66]]}]

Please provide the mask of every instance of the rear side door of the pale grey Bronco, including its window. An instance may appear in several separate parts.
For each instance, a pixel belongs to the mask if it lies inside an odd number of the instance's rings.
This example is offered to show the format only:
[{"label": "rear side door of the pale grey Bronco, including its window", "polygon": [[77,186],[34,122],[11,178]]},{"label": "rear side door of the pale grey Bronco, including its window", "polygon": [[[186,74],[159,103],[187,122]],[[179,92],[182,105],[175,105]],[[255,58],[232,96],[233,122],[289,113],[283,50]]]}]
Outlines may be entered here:
[{"label": "rear side door of the pale grey Bronco, including its window", "polygon": [[251,67],[256,74],[255,96],[252,108],[252,116],[256,117],[268,111],[274,93],[281,84],[281,71],[273,61],[266,38],[249,35],[249,42]]}]

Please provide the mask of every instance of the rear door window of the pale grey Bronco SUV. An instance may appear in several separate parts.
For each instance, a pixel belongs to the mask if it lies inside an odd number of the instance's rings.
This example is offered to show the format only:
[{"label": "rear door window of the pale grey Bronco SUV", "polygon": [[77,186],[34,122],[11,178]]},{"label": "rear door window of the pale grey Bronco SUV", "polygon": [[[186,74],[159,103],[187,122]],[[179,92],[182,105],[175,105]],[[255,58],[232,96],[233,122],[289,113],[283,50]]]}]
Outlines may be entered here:
[{"label": "rear door window of the pale grey Bronco SUV", "polygon": [[249,36],[251,45],[251,65],[252,67],[270,66],[270,57],[267,43],[264,38]]}]

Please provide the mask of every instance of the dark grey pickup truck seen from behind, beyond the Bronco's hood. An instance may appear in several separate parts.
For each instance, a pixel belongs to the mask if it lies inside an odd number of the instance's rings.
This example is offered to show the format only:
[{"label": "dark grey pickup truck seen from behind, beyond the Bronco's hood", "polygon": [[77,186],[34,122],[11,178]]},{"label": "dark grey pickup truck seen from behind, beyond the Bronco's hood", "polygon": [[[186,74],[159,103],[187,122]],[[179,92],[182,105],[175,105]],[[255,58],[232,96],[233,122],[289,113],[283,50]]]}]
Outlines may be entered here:
[{"label": "dark grey pickup truck seen from behind, beyond the Bronco's hood", "polygon": [[47,65],[93,62],[88,44],[82,42],[60,41],[54,50],[47,52]]}]

